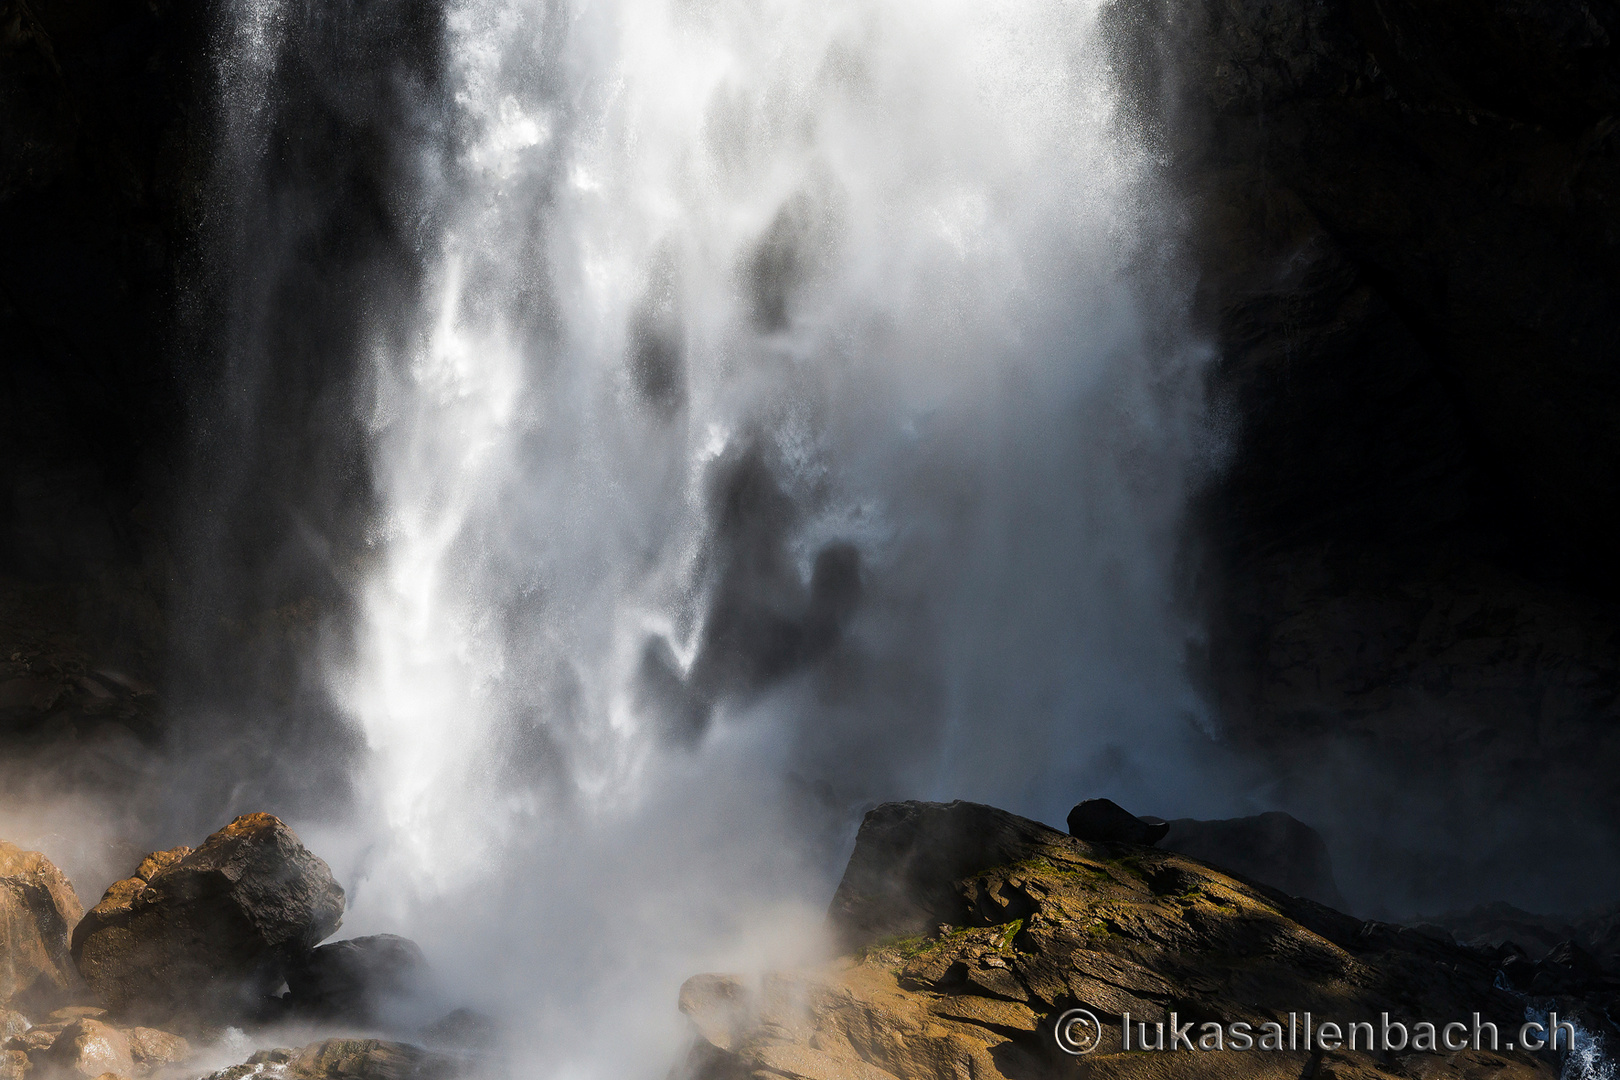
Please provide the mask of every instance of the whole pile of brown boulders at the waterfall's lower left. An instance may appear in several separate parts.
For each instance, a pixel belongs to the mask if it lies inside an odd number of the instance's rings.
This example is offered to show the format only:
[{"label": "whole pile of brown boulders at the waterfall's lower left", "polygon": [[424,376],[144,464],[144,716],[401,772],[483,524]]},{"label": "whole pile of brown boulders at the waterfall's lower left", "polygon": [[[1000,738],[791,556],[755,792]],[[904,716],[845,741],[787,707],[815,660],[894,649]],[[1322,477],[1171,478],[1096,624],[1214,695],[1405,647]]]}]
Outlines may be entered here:
[{"label": "whole pile of brown boulders at the waterfall's lower left", "polygon": [[408,1020],[434,1001],[415,942],[319,944],[342,915],[327,865],[271,814],[147,855],[87,913],[50,860],[0,842],[0,1080],[191,1080],[321,1028],[345,1038],[209,1080],[446,1080],[488,1056],[488,1017]]}]

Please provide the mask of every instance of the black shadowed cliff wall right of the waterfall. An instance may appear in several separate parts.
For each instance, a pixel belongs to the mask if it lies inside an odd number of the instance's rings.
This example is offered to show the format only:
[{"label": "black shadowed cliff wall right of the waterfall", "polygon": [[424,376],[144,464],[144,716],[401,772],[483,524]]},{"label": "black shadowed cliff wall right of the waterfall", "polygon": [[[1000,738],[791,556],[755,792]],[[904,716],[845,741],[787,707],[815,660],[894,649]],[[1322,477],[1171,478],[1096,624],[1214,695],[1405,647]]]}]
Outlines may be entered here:
[{"label": "black shadowed cliff wall right of the waterfall", "polygon": [[1390,874],[1396,905],[1601,899],[1620,10],[1207,0],[1155,28],[1218,343],[1189,565],[1228,732],[1358,847],[1353,900]]}]

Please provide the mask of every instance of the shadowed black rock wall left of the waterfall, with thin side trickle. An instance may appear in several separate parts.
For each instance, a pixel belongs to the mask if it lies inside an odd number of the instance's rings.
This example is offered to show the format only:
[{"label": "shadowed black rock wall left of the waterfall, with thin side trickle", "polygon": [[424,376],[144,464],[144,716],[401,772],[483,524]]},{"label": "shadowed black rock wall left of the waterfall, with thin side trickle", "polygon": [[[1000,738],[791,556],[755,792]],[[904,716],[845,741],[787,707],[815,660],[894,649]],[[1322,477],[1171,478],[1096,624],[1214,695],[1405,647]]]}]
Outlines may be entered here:
[{"label": "shadowed black rock wall left of the waterfall, with thin side trickle", "polygon": [[190,824],[340,797],[309,657],[364,547],[361,364],[416,306],[450,139],[441,6],[258,5],[249,50],[235,0],[0,0],[8,751],[133,730],[254,777]]}]

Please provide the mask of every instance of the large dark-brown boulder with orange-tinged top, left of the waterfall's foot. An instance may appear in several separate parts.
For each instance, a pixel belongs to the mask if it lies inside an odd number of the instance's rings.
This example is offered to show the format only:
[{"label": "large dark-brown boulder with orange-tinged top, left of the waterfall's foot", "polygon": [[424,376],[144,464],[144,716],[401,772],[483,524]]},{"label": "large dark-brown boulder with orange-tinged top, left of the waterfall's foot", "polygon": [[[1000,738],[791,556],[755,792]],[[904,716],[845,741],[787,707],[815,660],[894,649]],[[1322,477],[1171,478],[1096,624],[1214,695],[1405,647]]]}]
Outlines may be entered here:
[{"label": "large dark-brown boulder with orange-tinged top, left of the waterfall's foot", "polygon": [[73,931],[73,959],[120,1018],[225,1022],[262,1007],[342,916],[327,865],[277,818],[245,814],[107,889]]}]

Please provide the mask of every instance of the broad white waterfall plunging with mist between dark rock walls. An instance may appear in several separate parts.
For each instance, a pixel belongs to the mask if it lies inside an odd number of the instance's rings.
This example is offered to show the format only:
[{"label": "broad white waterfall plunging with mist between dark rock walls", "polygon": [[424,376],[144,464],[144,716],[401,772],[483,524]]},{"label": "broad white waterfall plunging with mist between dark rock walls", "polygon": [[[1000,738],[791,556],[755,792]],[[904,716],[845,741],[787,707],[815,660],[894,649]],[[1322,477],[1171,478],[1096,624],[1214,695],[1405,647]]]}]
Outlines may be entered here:
[{"label": "broad white waterfall plunging with mist between dark rock walls", "polygon": [[813,955],[863,801],[1194,810],[1199,351],[1098,21],[449,11],[434,300],[376,347],[330,664],[364,806],[326,850],[348,929],[450,959],[525,1074],[659,1075],[684,976]]}]

